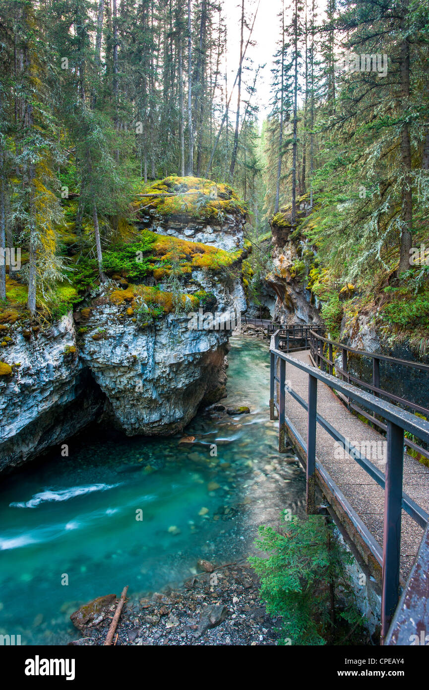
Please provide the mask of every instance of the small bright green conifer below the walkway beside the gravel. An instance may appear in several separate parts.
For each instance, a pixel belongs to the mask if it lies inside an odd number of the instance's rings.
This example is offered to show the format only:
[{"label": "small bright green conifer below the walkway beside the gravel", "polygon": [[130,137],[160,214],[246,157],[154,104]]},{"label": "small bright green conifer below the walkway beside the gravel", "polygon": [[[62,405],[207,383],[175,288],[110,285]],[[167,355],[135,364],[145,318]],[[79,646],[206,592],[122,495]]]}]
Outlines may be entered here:
[{"label": "small bright green conifer below the walkway beside the gravel", "polygon": [[352,555],[322,515],[284,524],[284,534],[259,527],[255,546],[269,555],[249,559],[268,613],[281,617],[280,644],[353,644],[362,618],[346,573]]}]

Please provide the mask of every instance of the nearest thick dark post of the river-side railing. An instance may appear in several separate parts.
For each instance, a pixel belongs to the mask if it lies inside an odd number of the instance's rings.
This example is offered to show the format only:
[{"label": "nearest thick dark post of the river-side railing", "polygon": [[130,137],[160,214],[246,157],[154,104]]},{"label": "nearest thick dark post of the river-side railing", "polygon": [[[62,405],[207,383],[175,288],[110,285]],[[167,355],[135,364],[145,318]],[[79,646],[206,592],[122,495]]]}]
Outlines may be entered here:
[{"label": "nearest thick dark post of the river-side railing", "polygon": [[393,422],[388,422],[381,574],[381,644],[386,638],[399,599],[402,477],[403,429]]}]

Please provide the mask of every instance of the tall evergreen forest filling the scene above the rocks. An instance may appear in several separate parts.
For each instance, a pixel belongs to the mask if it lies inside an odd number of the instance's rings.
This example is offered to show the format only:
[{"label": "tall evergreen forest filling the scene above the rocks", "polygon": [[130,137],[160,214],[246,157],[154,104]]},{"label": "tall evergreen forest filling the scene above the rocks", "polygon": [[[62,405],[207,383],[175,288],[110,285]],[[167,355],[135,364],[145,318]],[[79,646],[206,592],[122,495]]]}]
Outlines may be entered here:
[{"label": "tall evergreen forest filling the scene above the rocks", "polygon": [[[203,180],[225,186],[204,201],[209,217],[222,204],[248,213],[254,286],[270,270],[268,221],[284,213],[314,257],[301,274],[333,332],[370,305],[423,337],[428,0],[277,6],[263,117],[256,1],[239,1],[232,27],[210,0],[1,0],[0,246],[20,248],[22,263],[0,262],[4,308],[24,299],[34,317],[60,294],[69,304],[84,283],[70,277],[73,257],[108,280],[136,195],[180,195],[177,176],[203,196]],[[154,205],[168,213],[173,199]],[[354,296],[339,305],[348,284]]]}]

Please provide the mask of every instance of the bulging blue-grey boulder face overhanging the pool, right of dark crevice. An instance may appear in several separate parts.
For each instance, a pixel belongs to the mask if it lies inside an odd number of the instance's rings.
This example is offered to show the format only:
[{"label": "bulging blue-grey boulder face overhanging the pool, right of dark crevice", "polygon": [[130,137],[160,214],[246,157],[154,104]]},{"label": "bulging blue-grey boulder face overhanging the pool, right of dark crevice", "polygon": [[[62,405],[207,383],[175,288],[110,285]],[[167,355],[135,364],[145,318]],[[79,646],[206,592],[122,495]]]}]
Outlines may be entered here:
[{"label": "bulging blue-grey boulder face overhanging the pool, right of dark crevice", "polygon": [[181,431],[205,395],[225,393],[230,331],[190,330],[188,317],[168,315],[144,328],[118,319],[113,305],[94,308],[80,358],[106,395],[106,414],[127,435]]}]

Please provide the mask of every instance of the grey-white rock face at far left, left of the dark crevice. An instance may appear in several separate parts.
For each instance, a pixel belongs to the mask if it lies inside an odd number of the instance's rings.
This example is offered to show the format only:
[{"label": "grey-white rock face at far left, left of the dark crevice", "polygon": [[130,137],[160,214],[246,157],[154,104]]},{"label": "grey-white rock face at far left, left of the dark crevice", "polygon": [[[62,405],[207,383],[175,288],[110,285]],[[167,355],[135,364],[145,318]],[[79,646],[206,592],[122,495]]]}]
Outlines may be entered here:
[{"label": "grey-white rock face at far left, left of the dark crevice", "polygon": [[0,377],[0,470],[36,457],[101,413],[103,396],[75,349],[71,314],[26,337],[12,331],[13,373]]}]

